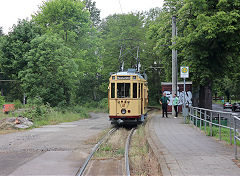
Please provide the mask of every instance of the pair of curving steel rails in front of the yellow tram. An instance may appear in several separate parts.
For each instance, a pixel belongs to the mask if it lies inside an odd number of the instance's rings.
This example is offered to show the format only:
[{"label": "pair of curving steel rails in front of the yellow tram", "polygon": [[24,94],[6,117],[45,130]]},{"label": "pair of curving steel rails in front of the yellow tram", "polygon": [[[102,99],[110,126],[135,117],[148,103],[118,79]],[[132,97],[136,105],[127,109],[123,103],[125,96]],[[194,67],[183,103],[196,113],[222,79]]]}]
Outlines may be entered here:
[{"label": "pair of curving steel rails in front of the yellow tram", "polygon": [[[91,153],[88,155],[88,157],[85,160],[85,162],[82,165],[82,167],[79,168],[78,172],[76,173],[76,176],[82,176],[84,174],[84,171],[87,168],[87,165],[88,165],[89,161],[91,160],[91,158],[93,157],[94,153],[99,149],[101,144],[103,142],[105,142],[117,130],[118,130],[118,128],[112,128],[103,138],[101,138],[99,140],[99,142],[93,147]],[[128,151],[129,151],[130,141],[131,141],[131,137],[132,137],[132,134],[133,134],[134,130],[135,130],[135,128],[131,129],[131,131],[129,132],[128,137],[126,139],[126,142],[125,142],[125,153],[124,153],[125,160],[124,161],[125,161],[125,171],[126,171],[125,175],[127,175],[127,176],[130,176],[130,166],[129,166]]]}]

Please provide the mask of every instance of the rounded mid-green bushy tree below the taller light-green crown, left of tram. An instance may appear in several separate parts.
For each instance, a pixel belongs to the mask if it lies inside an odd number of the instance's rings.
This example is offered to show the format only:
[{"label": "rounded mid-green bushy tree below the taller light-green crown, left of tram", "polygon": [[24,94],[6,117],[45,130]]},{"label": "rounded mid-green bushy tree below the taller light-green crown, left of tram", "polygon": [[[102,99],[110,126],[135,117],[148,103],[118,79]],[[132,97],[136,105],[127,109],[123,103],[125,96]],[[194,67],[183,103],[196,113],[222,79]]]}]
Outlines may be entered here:
[{"label": "rounded mid-green bushy tree below the taller light-green crown, left of tram", "polygon": [[27,67],[19,72],[27,96],[39,96],[52,106],[71,103],[77,78],[72,54],[56,35],[45,34],[33,39],[31,49],[24,55]]}]

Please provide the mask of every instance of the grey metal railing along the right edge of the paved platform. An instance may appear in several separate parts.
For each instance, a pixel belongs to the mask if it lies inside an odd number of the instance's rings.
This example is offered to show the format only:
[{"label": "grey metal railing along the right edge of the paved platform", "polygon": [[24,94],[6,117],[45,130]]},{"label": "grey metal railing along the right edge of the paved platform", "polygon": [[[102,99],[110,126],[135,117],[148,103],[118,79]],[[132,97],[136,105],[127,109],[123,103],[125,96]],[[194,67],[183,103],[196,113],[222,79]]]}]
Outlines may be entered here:
[{"label": "grey metal railing along the right edge of the paved platform", "polygon": [[222,139],[222,128],[229,130],[229,141],[232,145],[232,138],[234,139],[234,155],[238,159],[237,141],[240,141],[240,118],[237,114],[232,112],[214,111],[210,109],[189,107],[189,120],[196,127],[200,129],[204,126],[205,134],[207,134],[207,126],[210,129],[210,136],[213,136],[213,126],[218,127],[219,140]]}]

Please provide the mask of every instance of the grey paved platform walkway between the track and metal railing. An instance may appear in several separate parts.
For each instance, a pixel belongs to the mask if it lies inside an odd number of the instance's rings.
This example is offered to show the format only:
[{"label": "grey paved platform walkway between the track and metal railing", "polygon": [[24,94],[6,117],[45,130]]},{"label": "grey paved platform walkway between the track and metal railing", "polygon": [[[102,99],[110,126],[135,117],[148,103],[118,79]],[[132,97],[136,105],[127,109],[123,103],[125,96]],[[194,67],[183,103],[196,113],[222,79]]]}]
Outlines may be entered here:
[{"label": "grey paved platform walkway between the track and metal railing", "polygon": [[154,114],[149,124],[150,136],[158,145],[172,176],[239,176],[240,168],[232,161],[233,148],[197,129],[180,118],[161,118]]}]

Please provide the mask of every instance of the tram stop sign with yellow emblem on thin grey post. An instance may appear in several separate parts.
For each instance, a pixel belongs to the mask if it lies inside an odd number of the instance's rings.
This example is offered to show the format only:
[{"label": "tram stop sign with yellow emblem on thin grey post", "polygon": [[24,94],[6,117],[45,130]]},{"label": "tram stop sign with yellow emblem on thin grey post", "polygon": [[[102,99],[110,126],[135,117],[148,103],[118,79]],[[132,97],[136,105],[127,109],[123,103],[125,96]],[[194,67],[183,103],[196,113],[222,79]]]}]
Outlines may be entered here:
[{"label": "tram stop sign with yellow emblem on thin grey post", "polygon": [[180,68],[180,77],[184,79],[184,87],[183,87],[183,95],[184,95],[184,102],[183,102],[183,117],[184,117],[184,123],[186,123],[186,117],[188,115],[188,109],[186,108],[186,78],[189,78],[189,67],[182,66]]}]

